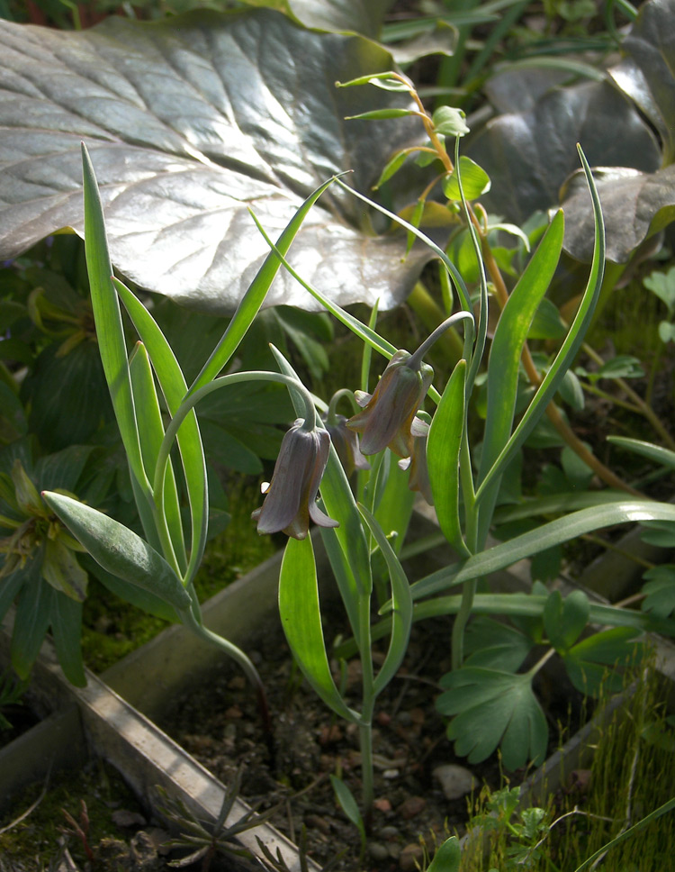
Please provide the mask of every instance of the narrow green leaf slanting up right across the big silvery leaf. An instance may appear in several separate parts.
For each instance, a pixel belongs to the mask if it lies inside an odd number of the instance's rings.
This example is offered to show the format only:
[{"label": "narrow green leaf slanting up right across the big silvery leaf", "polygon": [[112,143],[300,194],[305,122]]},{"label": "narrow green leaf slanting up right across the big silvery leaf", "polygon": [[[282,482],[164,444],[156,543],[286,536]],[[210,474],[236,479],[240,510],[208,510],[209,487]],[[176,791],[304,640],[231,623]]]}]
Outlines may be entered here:
[{"label": "narrow green leaf slanting up right across the big silvery leaf", "polygon": [[[293,215],[291,221],[284,228],[279,239],[276,241],[276,248],[283,255],[291,247],[291,243],[295,238],[295,234],[300,230],[305,216],[310,211],[313,204],[319,199],[320,195],[334,181],[335,177],[329,178],[327,182],[318,187],[307,199],[302,206]],[[253,213],[251,213],[253,214]],[[256,221],[255,215],[253,215]],[[257,223],[257,221],[256,221]],[[260,225],[258,224],[258,227]],[[225,331],[222,339],[212,351],[211,357],[206,361],[202,368],[202,372],[195,378],[193,385],[190,388],[190,393],[198,390],[200,387],[212,381],[226,365],[228,360],[238,349],[239,342],[244,338],[248,328],[251,326],[253,319],[256,317],[260,306],[264,303],[267,291],[269,290],[272,281],[281,266],[275,251],[270,251],[265,259],[265,263],[257,271],[256,277],[248,286],[246,294],[241,298],[237,306],[237,311],[232,316],[229,322],[228,329]]]}]

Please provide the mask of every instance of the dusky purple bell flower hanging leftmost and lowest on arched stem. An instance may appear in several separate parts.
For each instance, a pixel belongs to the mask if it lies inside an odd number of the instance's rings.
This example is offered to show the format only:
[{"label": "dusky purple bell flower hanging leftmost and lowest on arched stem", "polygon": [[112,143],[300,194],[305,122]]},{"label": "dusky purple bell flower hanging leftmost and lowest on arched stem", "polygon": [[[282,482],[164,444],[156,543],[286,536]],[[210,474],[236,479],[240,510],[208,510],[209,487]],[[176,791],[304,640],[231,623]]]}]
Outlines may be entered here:
[{"label": "dusky purple bell flower hanging leftmost and lowest on arched stem", "polygon": [[251,515],[259,533],[283,531],[293,539],[304,539],[310,521],[320,527],[338,526],[316,503],[329,459],[328,431],[306,430],[303,425],[299,418],[285,434],[265,502]]}]

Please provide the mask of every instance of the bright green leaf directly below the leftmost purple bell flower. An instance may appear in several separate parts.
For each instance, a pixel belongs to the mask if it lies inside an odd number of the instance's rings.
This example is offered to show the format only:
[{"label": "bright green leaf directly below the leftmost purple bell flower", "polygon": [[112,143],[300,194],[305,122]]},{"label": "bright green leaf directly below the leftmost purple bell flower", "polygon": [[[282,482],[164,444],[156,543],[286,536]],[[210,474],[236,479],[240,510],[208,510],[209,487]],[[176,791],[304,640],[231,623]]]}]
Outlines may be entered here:
[{"label": "bright green leaf directly below the leftmost purple bell flower", "polygon": [[330,674],[311,537],[289,539],[286,544],[279,574],[279,613],[302,675],[336,714],[358,722],[358,714],[348,708]]}]

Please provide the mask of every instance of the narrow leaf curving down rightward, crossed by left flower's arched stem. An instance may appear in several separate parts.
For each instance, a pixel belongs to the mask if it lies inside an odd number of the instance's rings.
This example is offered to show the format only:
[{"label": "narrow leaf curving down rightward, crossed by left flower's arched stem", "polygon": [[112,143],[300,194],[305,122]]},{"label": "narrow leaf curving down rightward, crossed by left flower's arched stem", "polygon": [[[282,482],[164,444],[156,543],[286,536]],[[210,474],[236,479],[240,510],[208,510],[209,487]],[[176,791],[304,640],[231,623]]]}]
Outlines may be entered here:
[{"label": "narrow leaf curving down rightward, crossed by left flower's arched stem", "polygon": [[[159,388],[164,395],[169,414],[175,415],[184,396],[187,394],[187,384],[183,370],[180,368],[175,354],[157,322],[133,295],[129,288],[115,280],[115,287],[120,295],[124,308],[129,313],[140,339],[148,350],[152,368],[155,370]],[[191,542],[190,562],[185,577],[185,583],[192,582],[194,574],[202,562],[202,554],[206,543],[208,526],[208,483],[206,478],[206,460],[202,448],[202,437],[194,411],[190,412],[181,424],[176,441],[180,450],[184,469],[184,480],[190,503]],[[158,495],[156,495],[156,498]]]}]

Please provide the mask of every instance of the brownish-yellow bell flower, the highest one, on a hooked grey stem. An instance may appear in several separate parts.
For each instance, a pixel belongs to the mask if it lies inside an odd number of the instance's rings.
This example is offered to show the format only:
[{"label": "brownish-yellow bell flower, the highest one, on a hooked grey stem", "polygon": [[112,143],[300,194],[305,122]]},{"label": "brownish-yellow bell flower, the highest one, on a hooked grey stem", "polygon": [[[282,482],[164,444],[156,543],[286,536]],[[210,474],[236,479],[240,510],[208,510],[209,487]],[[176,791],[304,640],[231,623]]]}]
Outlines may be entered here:
[{"label": "brownish-yellow bell flower, the highest one, on a hooked grey stem", "polygon": [[361,434],[364,454],[390,448],[400,458],[410,457],[413,438],[426,432],[416,413],[427,395],[434,370],[425,363],[410,367],[411,358],[409,351],[397,351],[373,394],[356,394],[356,402],[365,408],[347,421],[347,427]]}]

